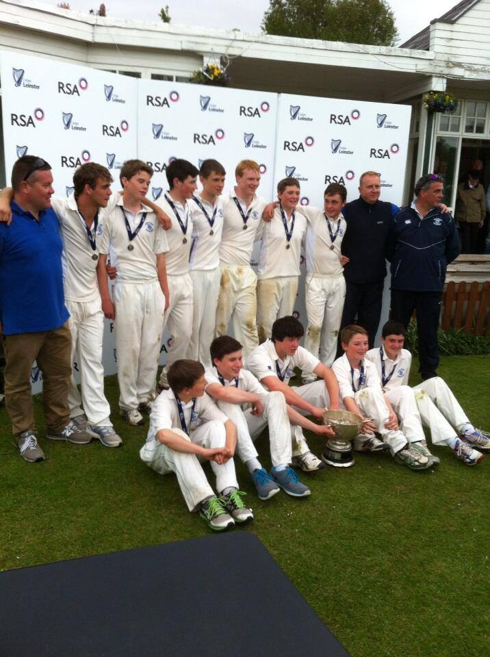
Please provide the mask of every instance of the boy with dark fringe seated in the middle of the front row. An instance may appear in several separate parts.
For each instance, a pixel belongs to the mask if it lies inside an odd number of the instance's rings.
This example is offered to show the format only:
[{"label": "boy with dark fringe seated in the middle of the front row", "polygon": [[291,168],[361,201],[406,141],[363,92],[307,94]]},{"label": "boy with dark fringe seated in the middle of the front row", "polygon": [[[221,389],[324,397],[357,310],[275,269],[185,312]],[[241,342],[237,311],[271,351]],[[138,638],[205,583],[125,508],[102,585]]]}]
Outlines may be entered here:
[{"label": "boy with dark fringe seated in the middle of the front row", "polygon": [[[339,408],[339,385],[330,368],[300,347],[304,334],[301,322],[292,315],[279,318],[272,324],[272,338],[253,350],[246,361],[246,368],[266,389],[282,392],[287,404],[301,415],[313,415],[315,419],[322,420],[327,407]],[[320,381],[290,387],[289,379],[294,375],[294,368],[315,372]],[[309,450],[302,431],[297,426],[292,430],[294,467],[303,472],[314,472],[325,467]]]}]

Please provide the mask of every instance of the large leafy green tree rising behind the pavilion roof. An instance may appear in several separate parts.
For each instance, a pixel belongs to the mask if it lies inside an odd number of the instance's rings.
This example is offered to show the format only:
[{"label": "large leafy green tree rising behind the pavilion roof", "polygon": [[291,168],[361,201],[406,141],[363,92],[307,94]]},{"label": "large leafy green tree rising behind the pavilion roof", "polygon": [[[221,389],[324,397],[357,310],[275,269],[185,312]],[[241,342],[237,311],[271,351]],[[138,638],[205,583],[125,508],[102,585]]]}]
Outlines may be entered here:
[{"label": "large leafy green tree rising behind the pavilion roof", "polygon": [[386,0],[270,0],[267,34],[394,46],[394,13]]}]

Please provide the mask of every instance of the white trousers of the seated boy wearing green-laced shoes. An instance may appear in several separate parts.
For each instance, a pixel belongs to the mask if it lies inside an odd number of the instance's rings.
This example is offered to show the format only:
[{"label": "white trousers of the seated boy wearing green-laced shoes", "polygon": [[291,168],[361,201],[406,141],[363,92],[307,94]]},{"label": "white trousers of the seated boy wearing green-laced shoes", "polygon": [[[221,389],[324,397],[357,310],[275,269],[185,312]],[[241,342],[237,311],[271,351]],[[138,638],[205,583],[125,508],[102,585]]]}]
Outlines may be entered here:
[{"label": "white trousers of the seated boy wearing green-laced shoes", "polygon": [[[179,428],[172,427],[172,431],[185,440],[192,441],[195,445],[208,449],[223,447],[226,441],[226,430],[224,424],[219,420],[201,424],[201,426],[191,430],[190,437]],[[215,495],[196,454],[177,452],[166,445],[162,445],[155,438],[142,446],[140,457],[146,465],[149,465],[159,474],[175,472],[189,511],[196,511],[203,500]],[[222,465],[211,461],[211,468],[214,476],[216,476],[216,491],[218,493],[222,493],[225,488],[238,488],[233,459],[229,459],[227,463]]]}]

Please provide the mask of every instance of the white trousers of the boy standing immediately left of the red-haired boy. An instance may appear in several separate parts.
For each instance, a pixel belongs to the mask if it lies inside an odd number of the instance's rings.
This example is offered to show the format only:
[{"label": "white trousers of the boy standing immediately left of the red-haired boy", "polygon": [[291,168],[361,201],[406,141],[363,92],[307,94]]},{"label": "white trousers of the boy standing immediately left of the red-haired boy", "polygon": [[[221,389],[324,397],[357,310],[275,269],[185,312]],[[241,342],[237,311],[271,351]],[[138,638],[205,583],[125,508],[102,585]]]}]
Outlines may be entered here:
[{"label": "white trousers of the boy standing immediately left of the red-haired boy", "polygon": [[190,277],[194,288],[194,311],[188,358],[203,363],[209,370],[212,367],[209,347],[214,338],[221,272],[219,267],[192,270]]}]

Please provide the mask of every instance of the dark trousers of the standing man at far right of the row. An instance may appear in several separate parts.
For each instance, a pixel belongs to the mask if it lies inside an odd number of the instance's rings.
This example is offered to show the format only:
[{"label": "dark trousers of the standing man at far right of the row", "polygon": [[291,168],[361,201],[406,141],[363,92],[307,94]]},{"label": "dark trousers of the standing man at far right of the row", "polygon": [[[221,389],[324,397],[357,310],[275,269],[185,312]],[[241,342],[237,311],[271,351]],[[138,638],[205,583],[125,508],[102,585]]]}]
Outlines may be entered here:
[{"label": "dark trousers of the standing man at far right of the row", "polygon": [[413,311],[417,313],[419,372],[422,378],[437,376],[439,349],[437,329],[441,314],[442,292],[406,292],[391,290],[391,319],[408,326]]}]

